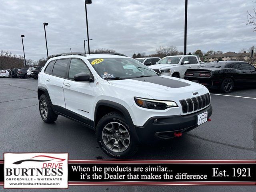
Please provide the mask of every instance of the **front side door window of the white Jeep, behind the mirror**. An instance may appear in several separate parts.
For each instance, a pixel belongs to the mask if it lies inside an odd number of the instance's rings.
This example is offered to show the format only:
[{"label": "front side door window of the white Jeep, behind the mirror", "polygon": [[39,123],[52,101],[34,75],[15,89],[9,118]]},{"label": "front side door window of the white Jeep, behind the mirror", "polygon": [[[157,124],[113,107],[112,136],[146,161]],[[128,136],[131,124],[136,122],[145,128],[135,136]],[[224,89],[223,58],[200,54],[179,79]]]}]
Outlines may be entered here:
[{"label": "front side door window of the white Jeep, behind the mirror", "polygon": [[68,78],[74,79],[74,76],[78,73],[90,74],[90,71],[82,60],[72,59],[69,67]]}]

